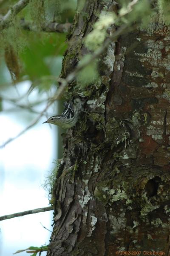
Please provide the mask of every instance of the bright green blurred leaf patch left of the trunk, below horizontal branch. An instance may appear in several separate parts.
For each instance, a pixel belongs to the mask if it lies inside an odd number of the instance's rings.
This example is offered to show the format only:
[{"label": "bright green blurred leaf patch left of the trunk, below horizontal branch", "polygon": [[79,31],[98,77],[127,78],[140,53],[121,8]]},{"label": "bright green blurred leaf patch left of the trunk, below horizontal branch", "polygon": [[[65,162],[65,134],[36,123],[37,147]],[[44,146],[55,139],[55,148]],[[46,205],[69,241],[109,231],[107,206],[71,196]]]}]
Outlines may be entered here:
[{"label": "bright green blurred leaf patch left of the trunk, below horizontal branch", "polygon": [[[51,56],[57,58],[58,54],[60,58],[67,48],[64,35],[55,35],[54,37],[54,35],[46,34],[44,36],[40,34],[39,36],[37,33],[37,38],[34,36],[32,32],[29,32],[30,46],[26,47],[25,51],[20,54],[24,66],[23,75],[28,75],[31,80],[54,74],[54,70],[51,71],[47,59]],[[56,73],[58,73],[57,70]]]}]

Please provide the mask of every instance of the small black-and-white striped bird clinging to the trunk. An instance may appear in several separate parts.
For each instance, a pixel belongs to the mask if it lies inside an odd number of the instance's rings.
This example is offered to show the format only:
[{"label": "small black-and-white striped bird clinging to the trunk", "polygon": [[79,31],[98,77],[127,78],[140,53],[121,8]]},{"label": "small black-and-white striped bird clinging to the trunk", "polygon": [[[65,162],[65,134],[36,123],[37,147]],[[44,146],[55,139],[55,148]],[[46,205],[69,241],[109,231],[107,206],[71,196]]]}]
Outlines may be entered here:
[{"label": "small black-and-white striped bird clinging to the trunk", "polygon": [[68,103],[65,102],[65,109],[61,116],[51,116],[47,121],[43,122],[43,124],[50,123],[58,125],[63,129],[68,129],[76,124],[78,120],[78,114],[79,110],[77,104],[74,105],[72,101],[69,101]]}]

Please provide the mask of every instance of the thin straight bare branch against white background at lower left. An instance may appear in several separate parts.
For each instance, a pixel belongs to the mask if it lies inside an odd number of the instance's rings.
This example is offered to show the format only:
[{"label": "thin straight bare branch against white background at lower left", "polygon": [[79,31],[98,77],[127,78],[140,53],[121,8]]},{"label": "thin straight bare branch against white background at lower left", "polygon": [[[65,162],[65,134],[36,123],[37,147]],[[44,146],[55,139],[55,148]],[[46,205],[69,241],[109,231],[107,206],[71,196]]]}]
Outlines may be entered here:
[{"label": "thin straight bare branch against white background at lower left", "polygon": [[48,207],[42,207],[42,208],[37,208],[37,209],[33,209],[33,210],[28,210],[25,212],[17,212],[17,213],[1,216],[0,221],[4,221],[4,220],[8,220],[10,218],[20,217],[20,216],[24,216],[24,215],[28,215],[28,214],[34,214],[34,213],[38,213],[38,212],[47,212],[47,211],[51,211],[53,209],[54,208],[52,206],[48,206]]}]

